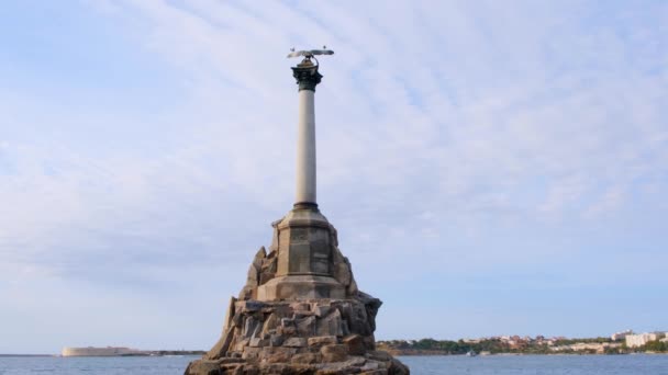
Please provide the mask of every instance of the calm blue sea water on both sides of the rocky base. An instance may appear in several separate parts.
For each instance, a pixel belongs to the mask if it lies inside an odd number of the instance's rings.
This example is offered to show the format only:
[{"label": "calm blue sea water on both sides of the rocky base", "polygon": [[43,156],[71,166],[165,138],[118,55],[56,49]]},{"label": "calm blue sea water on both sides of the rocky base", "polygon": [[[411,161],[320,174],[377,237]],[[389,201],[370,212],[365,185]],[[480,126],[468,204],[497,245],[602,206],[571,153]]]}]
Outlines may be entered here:
[{"label": "calm blue sea water on both sides of the rocky base", "polygon": [[[180,375],[196,356],[0,357],[0,375]],[[668,375],[668,355],[404,356],[411,374]]]}]

